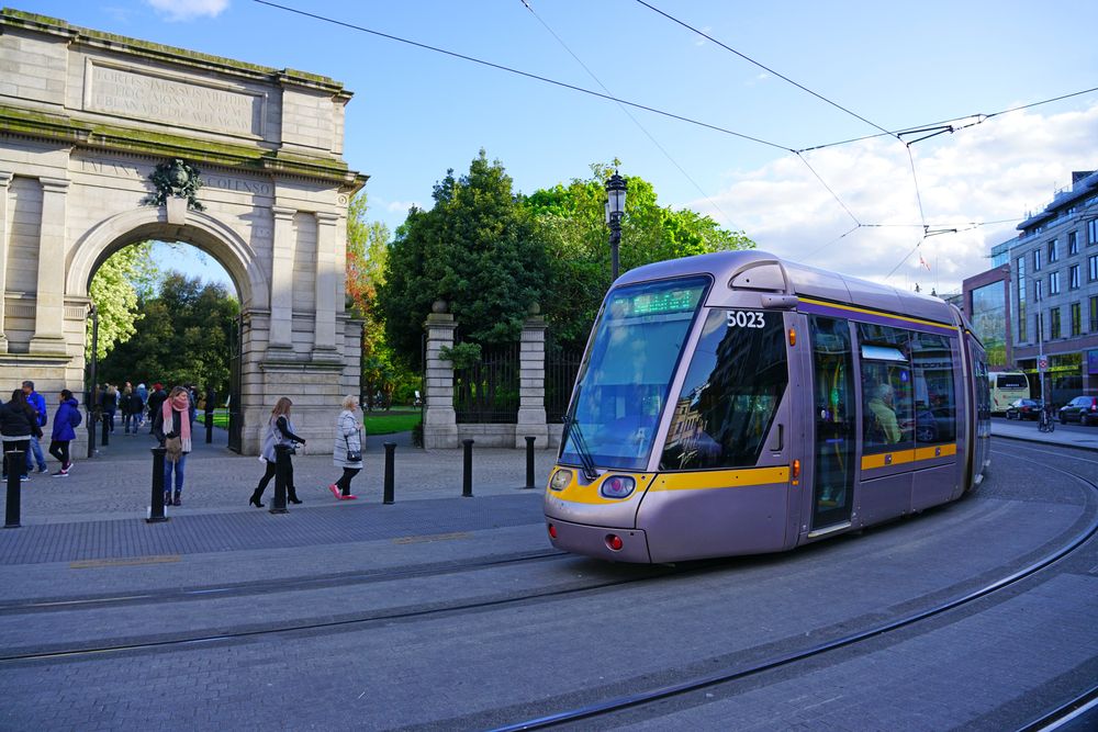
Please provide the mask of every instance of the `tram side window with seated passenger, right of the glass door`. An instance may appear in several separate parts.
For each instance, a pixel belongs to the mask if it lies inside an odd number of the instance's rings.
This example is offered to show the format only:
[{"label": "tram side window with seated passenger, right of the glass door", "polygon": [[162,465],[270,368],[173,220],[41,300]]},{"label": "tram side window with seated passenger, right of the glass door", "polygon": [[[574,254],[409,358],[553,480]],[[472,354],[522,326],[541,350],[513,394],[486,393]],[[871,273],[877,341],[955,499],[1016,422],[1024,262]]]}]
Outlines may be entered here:
[{"label": "tram side window with seated passenger, right of the glass door", "polygon": [[910,336],[899,328],[858,324],[863,452],[914,446]]}]

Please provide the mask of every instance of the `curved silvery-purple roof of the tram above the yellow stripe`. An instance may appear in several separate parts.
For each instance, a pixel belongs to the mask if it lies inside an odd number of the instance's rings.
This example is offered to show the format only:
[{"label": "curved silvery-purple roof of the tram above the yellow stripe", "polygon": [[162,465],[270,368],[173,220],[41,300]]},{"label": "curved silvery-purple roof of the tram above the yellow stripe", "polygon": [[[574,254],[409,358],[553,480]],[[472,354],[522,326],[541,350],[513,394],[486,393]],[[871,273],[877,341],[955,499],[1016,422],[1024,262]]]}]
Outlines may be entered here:
[{"label": "curved silvery-purple roof of the tram above the yellow stripe", "polygon": [[[740,277],[749,270],[759,274],[751,282]],[[718,251],[646,264],[626,272],[615,284],[702,273],[712,274],[718,288],[725,285],[729,291],[746,289],[814,297],[939,323],[960,324],[962,320],[960,313],[939,297],[808,267],[758,249]]]}]

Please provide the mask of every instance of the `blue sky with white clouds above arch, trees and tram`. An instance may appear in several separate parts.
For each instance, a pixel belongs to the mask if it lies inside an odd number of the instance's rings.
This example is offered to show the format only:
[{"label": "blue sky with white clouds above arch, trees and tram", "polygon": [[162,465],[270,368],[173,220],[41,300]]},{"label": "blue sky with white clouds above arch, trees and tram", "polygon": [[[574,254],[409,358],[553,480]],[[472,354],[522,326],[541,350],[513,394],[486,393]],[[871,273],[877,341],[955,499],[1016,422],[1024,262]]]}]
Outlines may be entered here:
[{"label": "blue sky with white clouds above arch, trees and tram", "polygon": [[[626,111],[253,0],[10,1],[76,25],[343,82],[355,92],[345,157],[370,176],[370,215],[390,228],[408,205],[429,204],[432,185],[448,168],[468,170],[482,147],[523,192],[585,178],[590,164],[618,158],[624,174],[656,185],[661,203],[709,214],[761,249],[948,292],[986,269],[990,246],[1069,185],[1073,170],[1098,168],[1098,92],[991,116],[910,148],[877,137],[799,157],[788,151],[878,127],[964,124],[970,115],[1098,87],[1093,0],[648,0],[713,40],[637,0],[280,0],[564,83],[605,88],[770,144]],[[923,224],[959,232],[923,239]]]}]

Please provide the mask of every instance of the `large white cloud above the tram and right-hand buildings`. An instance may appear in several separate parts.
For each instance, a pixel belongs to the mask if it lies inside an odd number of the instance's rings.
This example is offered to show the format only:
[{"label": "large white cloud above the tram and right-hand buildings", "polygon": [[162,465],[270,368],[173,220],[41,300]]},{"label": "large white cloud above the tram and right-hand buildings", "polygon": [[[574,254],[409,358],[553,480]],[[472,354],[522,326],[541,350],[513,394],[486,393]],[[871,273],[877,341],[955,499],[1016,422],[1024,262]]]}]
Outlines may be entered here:
[{"label": "large white cloud above the tram and right-hand buildings", "polygon": [[[727,213],[760,249],[793,260],[905,289],[918,282],[925,292],[955,292],[990,267],[990,248],[1017,235],[1028,212],[1071,185],[1073,170],[1098,168],[1096,139],[1098,104],[1047,116],[1015,112],[914,145],[918,195],[905,146],[874,138],[805,154],[834,196],[789,155],[735,174],[730,188],[710,196],[719,211],[706,201],[691,207],[717,221]],[[957,232],[923,239],[920,198],[931,230]]]}]

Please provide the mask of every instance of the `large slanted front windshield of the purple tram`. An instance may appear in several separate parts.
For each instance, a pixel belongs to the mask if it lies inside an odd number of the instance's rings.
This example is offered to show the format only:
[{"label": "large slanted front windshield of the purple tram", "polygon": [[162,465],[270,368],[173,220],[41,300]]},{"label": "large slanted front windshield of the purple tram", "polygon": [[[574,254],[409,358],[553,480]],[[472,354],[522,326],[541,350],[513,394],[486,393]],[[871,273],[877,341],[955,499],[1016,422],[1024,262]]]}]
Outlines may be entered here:
[{"label": "large slanted front windshield of the purple tram", "polygon": [[595,324],[564,423],[560,460],[645,470],[708,277],[613,291]]}]

